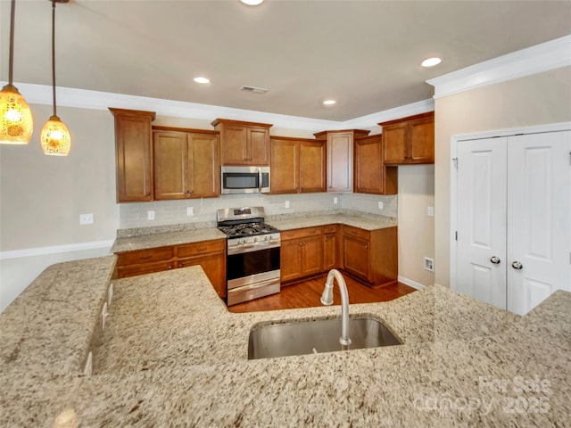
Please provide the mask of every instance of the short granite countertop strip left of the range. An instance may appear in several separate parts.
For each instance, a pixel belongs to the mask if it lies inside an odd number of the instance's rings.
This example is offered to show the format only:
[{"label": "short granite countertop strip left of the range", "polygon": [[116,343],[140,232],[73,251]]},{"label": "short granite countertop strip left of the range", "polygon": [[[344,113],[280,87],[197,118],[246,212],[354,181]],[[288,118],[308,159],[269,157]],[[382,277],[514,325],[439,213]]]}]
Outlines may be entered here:
[{"label": "short granite countertop strip left of the range", "polygon": [[220,232],[216,227],[207,227],[177,232],[163,232],[153,235],[126,236],[117,238],[115,243],[113,243],[111,251],[117,253],[146,250],[185,243],[199,243],[213,239],[226,239],[226,235]]}]

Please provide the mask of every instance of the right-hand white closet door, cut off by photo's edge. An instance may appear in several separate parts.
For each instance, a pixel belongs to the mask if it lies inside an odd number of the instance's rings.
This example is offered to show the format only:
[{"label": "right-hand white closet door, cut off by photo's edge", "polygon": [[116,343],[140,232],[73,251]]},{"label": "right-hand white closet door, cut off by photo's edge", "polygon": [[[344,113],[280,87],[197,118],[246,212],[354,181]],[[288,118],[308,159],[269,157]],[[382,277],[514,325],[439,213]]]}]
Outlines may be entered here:
[{"label": "right-hand white closet door, cut off by photo's edge", "polygon": [[571,292],[571,131],[509,137],[508,309]]}]

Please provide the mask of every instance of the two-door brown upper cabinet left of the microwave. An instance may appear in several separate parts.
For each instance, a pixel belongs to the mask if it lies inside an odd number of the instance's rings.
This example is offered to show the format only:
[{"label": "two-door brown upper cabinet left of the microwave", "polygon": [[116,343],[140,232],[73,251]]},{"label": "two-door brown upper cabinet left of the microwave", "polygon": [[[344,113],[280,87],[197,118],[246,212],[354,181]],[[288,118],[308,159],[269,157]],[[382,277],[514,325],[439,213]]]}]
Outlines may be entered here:
[{"label": "two-door brown upper cabinet left of the microwave", "polygon": [[219,197],[218,132],[154,127],[153,160],[155,200]]}]

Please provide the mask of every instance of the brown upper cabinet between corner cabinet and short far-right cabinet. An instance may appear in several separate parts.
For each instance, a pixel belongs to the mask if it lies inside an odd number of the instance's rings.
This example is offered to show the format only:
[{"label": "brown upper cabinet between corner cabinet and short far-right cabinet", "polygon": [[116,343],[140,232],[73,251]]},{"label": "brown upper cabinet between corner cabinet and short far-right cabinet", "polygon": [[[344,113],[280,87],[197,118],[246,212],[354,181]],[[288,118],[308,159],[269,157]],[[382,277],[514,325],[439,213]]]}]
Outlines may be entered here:
[{"label": "brown upper cabinet between corner cabinet and short far-right cabinet", "polygon": [[355,138],[354,157],[354,192],[398,193],[398,169],[385,167],[383,137],[380,134]]}]

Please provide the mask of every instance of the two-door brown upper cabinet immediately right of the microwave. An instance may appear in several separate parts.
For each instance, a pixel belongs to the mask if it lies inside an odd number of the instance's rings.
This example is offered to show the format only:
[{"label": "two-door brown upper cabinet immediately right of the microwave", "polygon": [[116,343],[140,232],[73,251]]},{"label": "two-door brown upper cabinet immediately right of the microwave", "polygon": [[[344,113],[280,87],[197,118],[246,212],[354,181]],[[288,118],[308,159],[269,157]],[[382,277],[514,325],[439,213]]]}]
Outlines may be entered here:
[{"label": "two-door brown upper cabinet immediately right of the microwave", "polygon": [[271,193],[327,192],[325,143],[270,137]]}]

